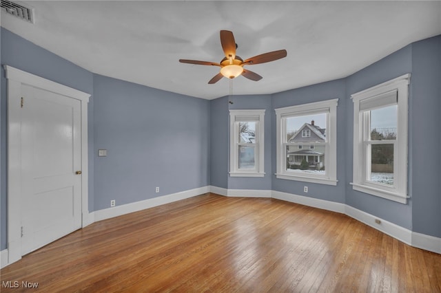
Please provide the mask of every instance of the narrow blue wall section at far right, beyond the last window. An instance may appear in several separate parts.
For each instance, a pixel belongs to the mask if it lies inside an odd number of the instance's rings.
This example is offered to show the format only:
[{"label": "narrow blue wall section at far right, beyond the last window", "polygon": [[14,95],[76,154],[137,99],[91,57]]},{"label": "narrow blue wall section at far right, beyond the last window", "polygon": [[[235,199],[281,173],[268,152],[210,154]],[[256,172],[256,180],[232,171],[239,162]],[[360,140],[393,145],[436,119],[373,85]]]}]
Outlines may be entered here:
[{"label": "narrow blue wall section at far right, beyond the last window", "polygon": [[411,46],[412,230],[441,237],[441,36]]}]

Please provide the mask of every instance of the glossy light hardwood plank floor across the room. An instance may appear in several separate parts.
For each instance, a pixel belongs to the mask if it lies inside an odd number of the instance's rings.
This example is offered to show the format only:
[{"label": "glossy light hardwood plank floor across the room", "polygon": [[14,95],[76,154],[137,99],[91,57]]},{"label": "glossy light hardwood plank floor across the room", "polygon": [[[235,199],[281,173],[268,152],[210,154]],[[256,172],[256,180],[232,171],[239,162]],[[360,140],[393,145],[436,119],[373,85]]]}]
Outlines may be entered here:
[{"label": "glossy light hardwood plank floor across the room", "polygon": [[1,292],[441,292],[441,254],[339,213],[212,193],[96,222],[0,273]]}]

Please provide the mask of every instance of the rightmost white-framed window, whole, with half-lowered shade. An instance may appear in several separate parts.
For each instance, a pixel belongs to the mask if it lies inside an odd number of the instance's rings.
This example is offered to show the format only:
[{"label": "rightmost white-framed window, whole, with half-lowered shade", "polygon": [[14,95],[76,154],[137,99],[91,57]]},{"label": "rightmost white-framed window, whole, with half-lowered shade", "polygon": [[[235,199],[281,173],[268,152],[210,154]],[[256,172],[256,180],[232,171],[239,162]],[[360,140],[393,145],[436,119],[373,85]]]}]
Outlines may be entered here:
[{"label": "rightmost white-framed window, whole, with half-lowered shade", "polygon": [[353,189],[407,203],[410,75],[353,94]]}]

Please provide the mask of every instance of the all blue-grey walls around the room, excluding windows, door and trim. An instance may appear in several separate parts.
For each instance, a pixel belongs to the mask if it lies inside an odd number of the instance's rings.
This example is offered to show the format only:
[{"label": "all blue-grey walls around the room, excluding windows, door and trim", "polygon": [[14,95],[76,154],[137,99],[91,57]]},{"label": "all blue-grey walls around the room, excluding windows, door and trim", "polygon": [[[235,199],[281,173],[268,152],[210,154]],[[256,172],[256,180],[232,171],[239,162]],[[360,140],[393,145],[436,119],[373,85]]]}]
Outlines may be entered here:
[{"label": "all blue-grey walls around the room, excluding windows, door and trim", "polygon": [[[258,189],[340,202],[415,232],[441,237],[441,36],[408,45],[365,69],[327,83],[272,95],[201,100],[92,74],[1,28],[1,65],[92,94],[89,103],[90,211],[201,186]],[[0,250],[7,247],[6,78],[0,99]],[[350,95],[411,73],[409,204],[353,191]],[[339,98],[337,186],[278,180],[274,109]],[[265,177],[229,177],[228,109],[266,109]],[[422,143],[424,142],[424,143]],[[107,149],[107,157],[97,157]],[[427,155],[431,154],[431,155]],[[424,172],[423,172],[424,171]],[[154,188],[160,187],[160,193]]]}]

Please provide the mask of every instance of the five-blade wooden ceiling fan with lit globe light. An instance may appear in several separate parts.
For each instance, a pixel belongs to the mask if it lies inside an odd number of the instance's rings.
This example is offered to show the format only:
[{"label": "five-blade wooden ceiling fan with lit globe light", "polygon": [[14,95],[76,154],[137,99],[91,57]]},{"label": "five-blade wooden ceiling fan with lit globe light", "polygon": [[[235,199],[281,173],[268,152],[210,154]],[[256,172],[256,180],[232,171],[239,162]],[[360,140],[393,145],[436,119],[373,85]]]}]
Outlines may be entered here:
[{"label": "five-blade wooden ceiling fan with lit globe light", "polygon": [[258,81],[262,79],[262,76],[243,68],[244,65],[267,63],[287,56],[286,50],[278,50],[260,54],[245,59],[244,61],[242,58],[236,55],[237,44],[236,41],[234,41],[233,33],[229,30],[220,31],[220,45],[222,45],[223,52],[225,53],[225,58],[223,58],[220,63],[187,59],[179,59],[179,62],[196,65],[219,66],[220,72],[208,82],[211,85],[213,83],[217,83],[220,78],[223,78],[223,76],[226,78],[236,78],[237,76],[242,75],[250,80]]}]

